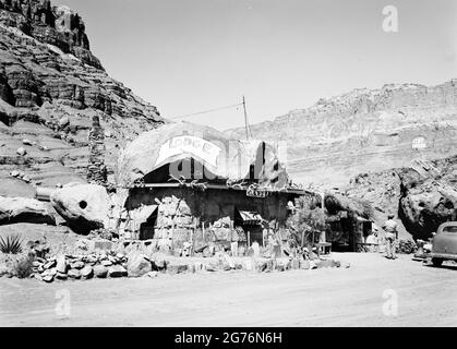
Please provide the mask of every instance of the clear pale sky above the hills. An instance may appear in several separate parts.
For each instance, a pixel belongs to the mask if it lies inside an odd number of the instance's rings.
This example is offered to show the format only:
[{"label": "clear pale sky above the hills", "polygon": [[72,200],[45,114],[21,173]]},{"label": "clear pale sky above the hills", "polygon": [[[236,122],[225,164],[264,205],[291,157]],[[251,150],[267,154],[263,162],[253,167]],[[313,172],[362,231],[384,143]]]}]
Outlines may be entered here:
[{"label": "clear pale sky above the hills", "polygon": [[[170,118],[232,105],[251,123],[321,97],[457,77],[455,0],[55,0],[108,73]],[[398,33],[382,11],[398,9]],[[187,118],[218,129],[242,109]]]}]

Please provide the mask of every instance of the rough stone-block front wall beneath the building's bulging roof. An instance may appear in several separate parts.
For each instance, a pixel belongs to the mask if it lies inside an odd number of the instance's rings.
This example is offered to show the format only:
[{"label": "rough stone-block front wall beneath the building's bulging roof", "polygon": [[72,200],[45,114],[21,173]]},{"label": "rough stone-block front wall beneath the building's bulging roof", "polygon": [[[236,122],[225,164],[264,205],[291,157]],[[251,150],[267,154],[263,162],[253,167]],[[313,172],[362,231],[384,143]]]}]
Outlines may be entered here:
[{"label": "rough stone-block front wall beneath the building's bulging roof", "polygon": [[[156,205],[157,210],[148,221],[136,227],[124,219],[121,236],[156,240],[159,250],[182,249],[187,242],[192,242],[194,250],[214,242],[227,244],[240,239],[234,231],[236,209],[255,210],[268,222],[277,221],[281,226],[287,218],[288,196],[272,194],[258,198],[249,197],[243,191],[134,189],[125,204],[131,217],[143,205]],[[262,231],[261,227],[258,229]]]}]

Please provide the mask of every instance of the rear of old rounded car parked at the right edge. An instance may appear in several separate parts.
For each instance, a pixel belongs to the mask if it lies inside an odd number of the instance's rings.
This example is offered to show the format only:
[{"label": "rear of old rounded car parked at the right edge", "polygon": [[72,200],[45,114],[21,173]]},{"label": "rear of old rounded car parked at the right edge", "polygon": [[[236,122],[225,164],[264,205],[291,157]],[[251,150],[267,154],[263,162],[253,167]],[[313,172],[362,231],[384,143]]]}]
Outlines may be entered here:
[{"label": "rear of old rounded car parked at the right edge", "polygon": [[433,237],[432,263],[441,266],[444,261],[457,261],[457,221],[442,224]]}]

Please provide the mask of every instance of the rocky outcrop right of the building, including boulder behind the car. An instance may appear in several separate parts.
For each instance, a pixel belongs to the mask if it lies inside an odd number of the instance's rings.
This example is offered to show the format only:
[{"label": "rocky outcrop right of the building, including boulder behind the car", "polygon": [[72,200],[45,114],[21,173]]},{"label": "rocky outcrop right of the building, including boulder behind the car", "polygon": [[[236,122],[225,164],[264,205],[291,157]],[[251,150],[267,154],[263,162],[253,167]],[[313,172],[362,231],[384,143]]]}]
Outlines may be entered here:
[{"label": "rocky outcrop right of the building, including boulder behind the car", "polygon": [[377,225],[394,214],[401,236],[426,240],[442,222],[457,219],[457,156],[358,174],[345,192],[370,202]]}]

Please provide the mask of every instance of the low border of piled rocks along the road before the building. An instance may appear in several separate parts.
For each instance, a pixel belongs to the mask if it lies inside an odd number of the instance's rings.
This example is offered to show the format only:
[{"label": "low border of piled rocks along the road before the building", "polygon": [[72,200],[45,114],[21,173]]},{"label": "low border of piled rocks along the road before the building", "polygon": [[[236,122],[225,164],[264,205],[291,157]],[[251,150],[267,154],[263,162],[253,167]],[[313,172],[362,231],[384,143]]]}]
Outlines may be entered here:
[{"label": "low border of piled rocks along the road before the building", "polygon": [[33,262],[33,277],[45,282],[68,279],[156,277],[159,273],[194,274],[200,272],[249,270],[257,273],[287,272],[291,269],[316,269],[324,267],[349,267],[334,260],[305,261],[296,258],[232,258],[218,253],[213,258],[179,258],[164,254],[151,257],[137,251],[123,253],[92,253],[87,255],[57,255],[37,257]]}]

